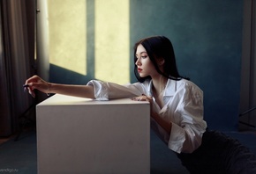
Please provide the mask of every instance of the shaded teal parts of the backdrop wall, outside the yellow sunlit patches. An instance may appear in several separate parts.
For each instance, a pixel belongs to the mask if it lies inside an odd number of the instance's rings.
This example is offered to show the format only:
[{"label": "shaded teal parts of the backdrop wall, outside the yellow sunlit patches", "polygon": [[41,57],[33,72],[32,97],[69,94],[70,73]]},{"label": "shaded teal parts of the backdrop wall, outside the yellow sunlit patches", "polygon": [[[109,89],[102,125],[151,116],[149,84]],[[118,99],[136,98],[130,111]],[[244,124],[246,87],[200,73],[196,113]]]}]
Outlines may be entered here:
[{"label": "shaded teal parts of the backdrop wall, outside the yellow sunlit patches", "polygon": [[[204,91],[209,128],[237,129],[242,54],[243,0],[131,0],[133,43],[164,35],[172,41],[180,74]],[[94,1],[87,0],[88,76],[50,66],[50,81],[87,83],[94,78]],[[131,59],[131,82],[133,62]]]}]

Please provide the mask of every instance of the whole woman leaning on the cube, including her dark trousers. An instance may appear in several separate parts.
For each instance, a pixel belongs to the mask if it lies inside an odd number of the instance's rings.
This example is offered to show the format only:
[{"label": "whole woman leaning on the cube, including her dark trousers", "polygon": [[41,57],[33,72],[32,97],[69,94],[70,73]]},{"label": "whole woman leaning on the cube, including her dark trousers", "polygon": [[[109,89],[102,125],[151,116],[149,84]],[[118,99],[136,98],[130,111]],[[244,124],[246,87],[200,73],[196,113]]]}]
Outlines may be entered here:
[{"label": "whole woman leaning on the cube, including her dark trousers", "polygon": [[70,85],[47,83],[32,76],[25,87],[33,97],[36,89],[97,100],[147,100],[151,104],[151,127],[191,173],[256,172],[256,159],[249,149],[221,133],[206,131],[203,92],[178,74],[169,39],[155,36],[139,40],[134,47],[134,64],[138,83],[92,80],[87,85]]}]

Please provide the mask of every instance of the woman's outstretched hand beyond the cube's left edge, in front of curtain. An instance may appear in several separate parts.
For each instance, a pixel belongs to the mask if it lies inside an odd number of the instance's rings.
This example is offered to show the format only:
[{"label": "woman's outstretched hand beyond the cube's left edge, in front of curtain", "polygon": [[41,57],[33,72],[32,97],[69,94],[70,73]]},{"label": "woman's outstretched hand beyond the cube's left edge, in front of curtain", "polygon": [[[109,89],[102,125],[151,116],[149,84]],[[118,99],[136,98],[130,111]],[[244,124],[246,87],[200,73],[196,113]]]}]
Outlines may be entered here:
[{"label": "woman's outstretched hand beyond the cube's left edge, in front of curtain", "polygon": [[25,88],[27,88],[29,94],[33,97],[35,97],[34,89],[44,93],[50,93],[51,84],[42,80],[39,76],[32,76],[28,78],[25,84],[28,85]]}]

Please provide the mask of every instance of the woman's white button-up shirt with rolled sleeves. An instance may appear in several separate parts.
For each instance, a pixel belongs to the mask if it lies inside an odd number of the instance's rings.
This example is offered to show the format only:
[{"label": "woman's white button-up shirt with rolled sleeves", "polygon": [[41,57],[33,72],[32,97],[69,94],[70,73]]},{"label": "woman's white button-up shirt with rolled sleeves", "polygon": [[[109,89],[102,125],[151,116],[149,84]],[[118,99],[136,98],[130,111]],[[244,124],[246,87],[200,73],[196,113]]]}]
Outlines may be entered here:
[{"label": "woman's white button-up shirt with rolled sleeves", "polygon": [[[153,96],[152,81],[119,85],[92,80],[87,85],[94,86],[97,100],[111,98],[133,98],[145,94]],[[151,127],[169,149],[177,153],[192,153],[200,147],[207,123],[203,120],[203,91],[188,80],[169,79],[163,92],[162,109],[154,101],[153,109],[162,119],[172,123],[170,134],[151,119]]]}]

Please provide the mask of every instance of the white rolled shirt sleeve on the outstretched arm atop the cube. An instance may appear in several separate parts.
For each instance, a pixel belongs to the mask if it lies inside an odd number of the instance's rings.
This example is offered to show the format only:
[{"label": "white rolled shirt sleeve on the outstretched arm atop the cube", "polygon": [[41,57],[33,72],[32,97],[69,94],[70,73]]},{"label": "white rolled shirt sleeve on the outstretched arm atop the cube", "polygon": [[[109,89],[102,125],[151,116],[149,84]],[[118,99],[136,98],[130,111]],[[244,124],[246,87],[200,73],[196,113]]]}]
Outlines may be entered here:
[{"label": "white rolled shirt sleeve on the outstretched arm atop the cube", "polygon": [[117,83],[91,80],[87,85],[94,86],[94,98],[96,100],[109,100],[114,98],[133,98],[145,94],[146,88],[143,83]]}]

